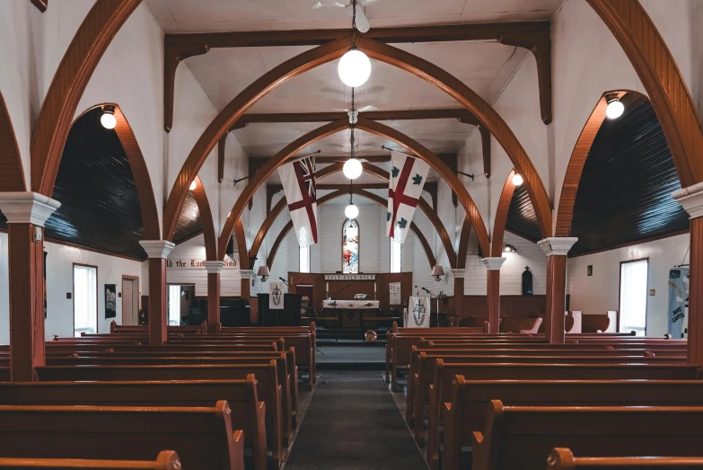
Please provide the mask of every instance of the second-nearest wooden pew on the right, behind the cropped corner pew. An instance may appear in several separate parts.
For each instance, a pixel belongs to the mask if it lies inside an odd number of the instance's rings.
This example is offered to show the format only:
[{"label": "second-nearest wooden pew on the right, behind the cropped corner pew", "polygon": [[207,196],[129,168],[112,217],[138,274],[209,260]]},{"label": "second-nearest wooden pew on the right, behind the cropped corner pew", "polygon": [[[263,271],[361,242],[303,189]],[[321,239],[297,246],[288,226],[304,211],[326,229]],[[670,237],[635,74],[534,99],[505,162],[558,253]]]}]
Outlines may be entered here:
[{"label": "second-nearest wooden pew on the right, behind the cropped corner pew", "polygon": [[703,407],[521,407],[493,400],[472,470],[543,470],[552,448],[584,457],[698,457]]}]

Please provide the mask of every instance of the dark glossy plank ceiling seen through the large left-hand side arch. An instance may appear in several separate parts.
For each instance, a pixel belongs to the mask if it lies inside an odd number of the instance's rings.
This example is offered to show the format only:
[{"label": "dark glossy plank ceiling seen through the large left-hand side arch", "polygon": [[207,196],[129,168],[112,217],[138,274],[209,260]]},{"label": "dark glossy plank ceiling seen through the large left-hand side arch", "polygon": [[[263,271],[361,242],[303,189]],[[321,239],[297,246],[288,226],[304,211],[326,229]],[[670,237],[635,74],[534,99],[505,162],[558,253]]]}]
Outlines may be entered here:
[{"label": "dark glossy plank ceiling seen through the large left-hand side arch", "polygon": [[96,108],[79,118],[66,139],[52,198],[61,202],[46,237],[103,252],[145,259],[144,224],[132,169],[114,130]]}]

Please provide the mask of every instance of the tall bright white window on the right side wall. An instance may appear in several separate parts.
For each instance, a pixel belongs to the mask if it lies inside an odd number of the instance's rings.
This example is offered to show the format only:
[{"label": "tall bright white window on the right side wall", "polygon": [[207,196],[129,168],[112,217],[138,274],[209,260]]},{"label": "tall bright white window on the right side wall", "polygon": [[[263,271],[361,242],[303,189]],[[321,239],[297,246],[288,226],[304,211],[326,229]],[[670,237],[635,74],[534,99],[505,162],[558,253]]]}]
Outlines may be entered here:
[{"label": "tall bright white window on the right side wall", "polygon": [[620,333],[646,335],[649,260],[620,262]]}]

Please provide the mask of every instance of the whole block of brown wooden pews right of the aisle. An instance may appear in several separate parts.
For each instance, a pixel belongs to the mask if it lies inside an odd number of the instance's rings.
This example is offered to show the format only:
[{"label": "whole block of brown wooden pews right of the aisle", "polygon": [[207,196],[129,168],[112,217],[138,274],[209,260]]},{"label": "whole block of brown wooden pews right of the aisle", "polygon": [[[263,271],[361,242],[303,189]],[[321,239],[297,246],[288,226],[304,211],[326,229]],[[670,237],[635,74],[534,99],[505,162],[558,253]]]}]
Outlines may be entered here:
[{"label": "whole block of brown wooden pews right of the aisle", "polygon": [[[582,466],[703,457],[703,371],[685,341],[411,330],[389,335],[388,359],[409,363],[389,363],[387,378],[409,368],[406,419],[433,469],[543,469],[554,448],[601,459]],[[550,469],[579,462],[559,452]]]}]

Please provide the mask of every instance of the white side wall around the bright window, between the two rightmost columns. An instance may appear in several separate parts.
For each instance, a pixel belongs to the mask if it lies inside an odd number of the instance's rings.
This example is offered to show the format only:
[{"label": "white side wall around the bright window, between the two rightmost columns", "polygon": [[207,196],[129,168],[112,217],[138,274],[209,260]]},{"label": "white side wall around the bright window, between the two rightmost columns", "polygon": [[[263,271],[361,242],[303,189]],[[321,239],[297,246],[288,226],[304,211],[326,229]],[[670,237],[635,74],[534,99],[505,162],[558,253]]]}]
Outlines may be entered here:
[{"label": "white side wall around the bright window, between the two rightmost columns", "polygon": [[[620,262],[649,259],[648,288],[655,296],[647,297],[647,336],[666,333],[666,309],[669,295],[669,268],[689,262],[689,235],[676,235],[646,244],[634,244],[616,250],[569,259],[568,283],[572,310],[585,315],[604,315],[620,310]],[[586,275],[593,265],[593,276]]]}]

